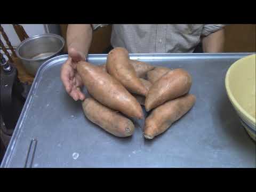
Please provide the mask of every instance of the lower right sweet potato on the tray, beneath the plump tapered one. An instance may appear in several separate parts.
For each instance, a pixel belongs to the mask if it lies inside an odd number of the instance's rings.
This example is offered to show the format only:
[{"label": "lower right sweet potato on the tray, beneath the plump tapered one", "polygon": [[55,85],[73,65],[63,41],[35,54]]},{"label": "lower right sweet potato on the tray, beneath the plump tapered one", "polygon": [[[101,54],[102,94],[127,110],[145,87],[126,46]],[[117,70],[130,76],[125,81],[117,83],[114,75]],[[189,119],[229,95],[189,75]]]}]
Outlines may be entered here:
[{"label": "lower right sweet potato on the tray, beneath the plump tapered one", "polygon": [[153,139],[156,135],[166,131],[172,123],[180,119],[193,107],[195,101],[195,95],[187,94],[155,108],[146,118],[144,137]]}]

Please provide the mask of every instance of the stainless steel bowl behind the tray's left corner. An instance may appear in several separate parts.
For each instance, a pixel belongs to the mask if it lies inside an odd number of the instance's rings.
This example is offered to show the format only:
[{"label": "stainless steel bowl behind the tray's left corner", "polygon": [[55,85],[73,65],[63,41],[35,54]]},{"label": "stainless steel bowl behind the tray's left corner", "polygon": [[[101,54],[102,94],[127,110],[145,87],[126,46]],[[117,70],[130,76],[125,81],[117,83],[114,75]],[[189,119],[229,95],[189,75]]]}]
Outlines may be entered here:
[{"label": "stainless steel bowl behind the tray's left corner", "polygon": [[16,49],[22,65],[31,75],[46,61],[62,52],[65,40],[55,34],[36,35],[25,39]]}]

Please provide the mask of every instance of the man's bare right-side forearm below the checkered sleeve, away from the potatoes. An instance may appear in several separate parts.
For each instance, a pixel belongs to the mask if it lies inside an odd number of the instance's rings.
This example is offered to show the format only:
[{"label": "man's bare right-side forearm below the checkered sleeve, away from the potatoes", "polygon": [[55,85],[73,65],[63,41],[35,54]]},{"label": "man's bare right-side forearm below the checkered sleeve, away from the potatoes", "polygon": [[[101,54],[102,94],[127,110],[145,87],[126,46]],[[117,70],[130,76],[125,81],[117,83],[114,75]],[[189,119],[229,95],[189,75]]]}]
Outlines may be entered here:
[{"label": "man's bare right-side forearm below the checkered sleeve, away from the potatoes", "polygon": [[220,29],[202,38],[203,51],[205,53],[220,53],[224,51],[225,31]]}]

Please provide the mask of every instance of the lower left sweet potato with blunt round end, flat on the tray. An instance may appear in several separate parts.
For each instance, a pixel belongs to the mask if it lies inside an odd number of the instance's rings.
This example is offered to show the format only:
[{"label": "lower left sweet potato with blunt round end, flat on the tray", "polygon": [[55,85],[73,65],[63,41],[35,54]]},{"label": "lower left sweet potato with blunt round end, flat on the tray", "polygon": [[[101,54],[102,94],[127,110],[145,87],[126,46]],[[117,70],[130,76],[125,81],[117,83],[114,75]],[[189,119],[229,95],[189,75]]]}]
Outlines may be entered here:
[{"label": "lower left sweet potato with blunt round end, flat on the tray", "polygon": [[103,106],[93,98],[82,102],[84,114],[92,123],[99,125],[105,131],[117,137],[129,137],[133,134],[132,121],[116,111]]}]

